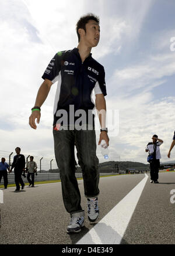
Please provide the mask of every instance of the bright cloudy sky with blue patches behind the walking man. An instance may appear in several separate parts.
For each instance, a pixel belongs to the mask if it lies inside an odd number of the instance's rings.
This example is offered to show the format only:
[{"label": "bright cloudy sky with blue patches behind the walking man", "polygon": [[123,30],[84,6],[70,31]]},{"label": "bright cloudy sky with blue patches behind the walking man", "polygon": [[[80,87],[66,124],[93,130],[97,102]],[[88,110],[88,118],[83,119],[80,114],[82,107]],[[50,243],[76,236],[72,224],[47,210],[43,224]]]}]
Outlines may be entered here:
[{"label": "bright cloudy sky with blue patches behind the walking man", "polygon": [[[37,130],[29,127],[41,76],[55,53],[78,45],[75,26],[92,12],[100,17],[100,42],[92,56],[106,71],[106,104],[117,110],[109,132],[110,159],[146,163],[145,146],[157,134],[162,161],[175,129],[174,0],[1,0],[1,147],[54,158],[53,105],[57,83],[41,107]],[[97,142],[99,131],[96,132]],[[97,148],[97,156],[103,161]],[[171,153],[175,159],[175,151]]]}]

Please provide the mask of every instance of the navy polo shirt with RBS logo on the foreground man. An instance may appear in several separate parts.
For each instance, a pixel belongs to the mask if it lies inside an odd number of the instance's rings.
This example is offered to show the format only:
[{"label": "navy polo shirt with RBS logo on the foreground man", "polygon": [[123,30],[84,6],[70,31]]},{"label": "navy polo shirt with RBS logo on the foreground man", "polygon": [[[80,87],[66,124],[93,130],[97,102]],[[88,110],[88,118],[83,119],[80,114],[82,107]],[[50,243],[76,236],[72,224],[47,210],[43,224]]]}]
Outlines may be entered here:
[{"label": "navy polo shirt with RBS logo on the foreground man", "polygon": [[[44,72],[43,79],[55,83],[58,81],[57,92],[54,103],[54,123],[57,124],[59,110],[68,113],[68,124],[70,105],[74,105],[74,114],[77,110],[85,110],[88,117],[88,110],[95,108],[92,100],[92,91],[95,94],[106,96],[106,83],[104,67],[92,57],[92,53],[82,63],[79,50],[67,50],[55,54]],[[74,121],[79,117],[75,117]],[[88,119],[86,120],[86,123]]]}]

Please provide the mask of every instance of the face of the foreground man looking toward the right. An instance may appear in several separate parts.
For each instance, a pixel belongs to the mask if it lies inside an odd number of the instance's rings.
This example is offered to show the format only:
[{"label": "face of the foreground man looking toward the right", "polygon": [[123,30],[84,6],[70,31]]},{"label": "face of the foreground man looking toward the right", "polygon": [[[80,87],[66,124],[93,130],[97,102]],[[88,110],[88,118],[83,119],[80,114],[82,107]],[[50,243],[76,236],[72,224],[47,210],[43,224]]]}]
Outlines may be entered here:
[{"label": "face of the foreground man looking toward the right", "polygon": [[89,20],[86,24],[86,33],[83,33],[81,40],[88,47],[96,47],[98,45],[100,40],[100,26],[96,21]]}]

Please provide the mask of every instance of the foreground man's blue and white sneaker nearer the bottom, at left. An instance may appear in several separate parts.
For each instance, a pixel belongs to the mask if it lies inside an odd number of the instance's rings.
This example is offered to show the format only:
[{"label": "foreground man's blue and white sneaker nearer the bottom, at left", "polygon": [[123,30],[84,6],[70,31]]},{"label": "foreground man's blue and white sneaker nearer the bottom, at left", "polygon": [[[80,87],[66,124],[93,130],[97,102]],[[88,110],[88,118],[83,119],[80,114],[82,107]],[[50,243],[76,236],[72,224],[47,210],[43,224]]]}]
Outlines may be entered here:
[{"label": "foreground man's blue and white sneaker nearer the bottom, at left", "polygon": [[85,221],[84,211],[71,214],[71,221],[69,223],[69,226],[67,227],[67,233],[69,234],[69,233],[80,232],[81,228],[84,226],[84,221]]}]

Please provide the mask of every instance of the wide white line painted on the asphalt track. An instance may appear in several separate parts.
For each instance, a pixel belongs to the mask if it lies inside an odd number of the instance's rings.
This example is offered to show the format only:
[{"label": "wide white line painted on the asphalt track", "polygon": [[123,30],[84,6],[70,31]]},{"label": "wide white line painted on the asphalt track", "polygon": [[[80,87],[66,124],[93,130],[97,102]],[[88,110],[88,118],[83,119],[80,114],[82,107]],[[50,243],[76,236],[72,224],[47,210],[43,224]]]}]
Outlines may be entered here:
[{"label": "wide white line painted on the asphalt track", "polygon": [[148,175],[76,244],[120,244]]}]

